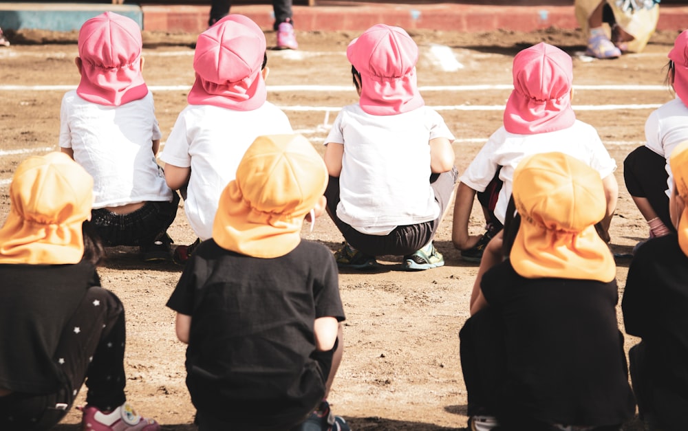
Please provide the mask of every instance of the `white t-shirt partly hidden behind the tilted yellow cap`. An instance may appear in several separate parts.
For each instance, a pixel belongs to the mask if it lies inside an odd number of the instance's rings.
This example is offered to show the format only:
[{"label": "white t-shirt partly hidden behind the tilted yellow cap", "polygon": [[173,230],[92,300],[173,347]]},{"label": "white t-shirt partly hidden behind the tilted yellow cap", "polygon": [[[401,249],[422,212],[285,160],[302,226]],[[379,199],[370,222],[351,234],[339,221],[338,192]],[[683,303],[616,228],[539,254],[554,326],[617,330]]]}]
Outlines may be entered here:
[{"label": "white t-shirt partly hidden behind the tilted yellow cap", "polygon": [[202,241],[213,236],[219,196],[235,179],[246,149],[260,135],[279,133],[292,133],[292,126],[287,115],[270,102],[253,111],[189,105],[179,114],[160,159],[180,168],[191,167],[184,211]]}]

